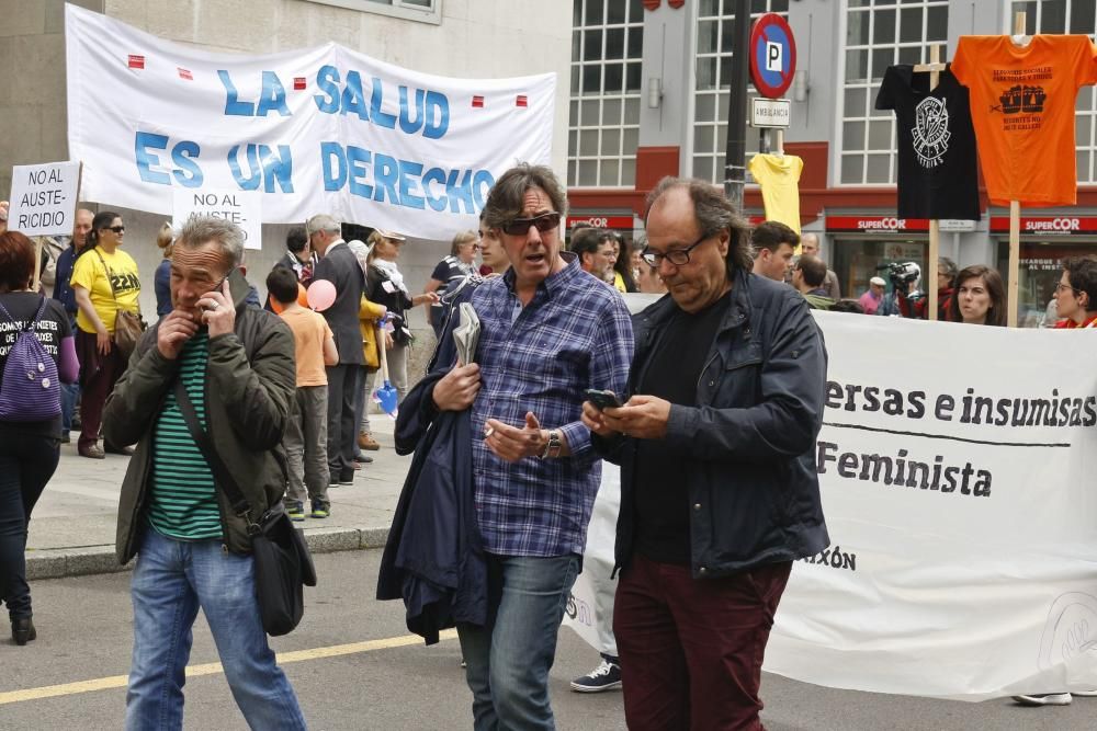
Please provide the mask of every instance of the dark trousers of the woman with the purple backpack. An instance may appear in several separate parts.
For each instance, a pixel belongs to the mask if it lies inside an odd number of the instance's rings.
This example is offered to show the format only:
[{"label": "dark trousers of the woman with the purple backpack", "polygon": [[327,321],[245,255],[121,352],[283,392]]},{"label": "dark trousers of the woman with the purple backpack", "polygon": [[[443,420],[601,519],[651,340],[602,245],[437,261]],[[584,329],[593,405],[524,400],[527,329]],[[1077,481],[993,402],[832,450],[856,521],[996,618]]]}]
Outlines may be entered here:
[{"label": "dark trousers of the woman with the purple backpack", "polygon": [[26,527],[31,511],[57,469],[60,454],[52,436],[0,431],[0,591],[12,619],[31,616],[26,584]]}]

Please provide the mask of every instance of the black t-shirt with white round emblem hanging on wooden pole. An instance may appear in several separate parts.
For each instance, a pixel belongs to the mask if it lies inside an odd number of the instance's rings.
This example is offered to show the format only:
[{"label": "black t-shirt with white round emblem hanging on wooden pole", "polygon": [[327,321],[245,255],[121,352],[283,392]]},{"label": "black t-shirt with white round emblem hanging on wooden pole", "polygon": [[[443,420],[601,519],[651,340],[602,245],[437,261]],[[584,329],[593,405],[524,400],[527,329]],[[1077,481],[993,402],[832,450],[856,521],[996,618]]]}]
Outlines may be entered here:
[{"label": "black t-shirt with white round emblem hanging on wooden pole", "polygon": [[968,88],[952,71],[929,90],[929,73],[909,64],[889,67],[878,110],[894,110],[898,126],[900,218],[979,220],[975,130]]}]

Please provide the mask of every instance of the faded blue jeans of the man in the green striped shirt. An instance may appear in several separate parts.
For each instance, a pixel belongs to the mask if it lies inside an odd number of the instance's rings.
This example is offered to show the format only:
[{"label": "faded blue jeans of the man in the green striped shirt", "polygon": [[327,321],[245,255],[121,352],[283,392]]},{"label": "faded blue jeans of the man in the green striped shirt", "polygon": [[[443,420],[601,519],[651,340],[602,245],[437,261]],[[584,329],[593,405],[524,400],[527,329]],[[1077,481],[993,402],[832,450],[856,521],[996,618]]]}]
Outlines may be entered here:
[{"label": "faded blue jeans of the man in the green striped shirt", "polygon": [[248,726],[305,728],[293,687],[267,643],[250,556],[229,553],[219,540],[174,540],[148,527],[131,594],[134,655],[126,729],[183,727],[183,670],[200,606]]}]

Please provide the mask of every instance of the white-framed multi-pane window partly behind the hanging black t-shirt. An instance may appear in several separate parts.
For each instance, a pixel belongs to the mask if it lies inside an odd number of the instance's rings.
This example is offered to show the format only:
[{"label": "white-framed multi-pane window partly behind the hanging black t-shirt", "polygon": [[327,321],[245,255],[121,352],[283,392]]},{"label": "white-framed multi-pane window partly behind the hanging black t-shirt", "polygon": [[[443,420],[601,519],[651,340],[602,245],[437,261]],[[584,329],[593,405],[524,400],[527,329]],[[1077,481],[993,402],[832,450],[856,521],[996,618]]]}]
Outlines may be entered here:
[{"label": "white-framed multi-pane window partly behind the hanging black t-shirt", "polygon": [[877,92],[889,66],[927,62],[930,44],[941,44],[941,57],[946,56],[949,2],[846,0],[845,4],[837,180],[842,185],[894,184],[895,115],[875,108]]}]

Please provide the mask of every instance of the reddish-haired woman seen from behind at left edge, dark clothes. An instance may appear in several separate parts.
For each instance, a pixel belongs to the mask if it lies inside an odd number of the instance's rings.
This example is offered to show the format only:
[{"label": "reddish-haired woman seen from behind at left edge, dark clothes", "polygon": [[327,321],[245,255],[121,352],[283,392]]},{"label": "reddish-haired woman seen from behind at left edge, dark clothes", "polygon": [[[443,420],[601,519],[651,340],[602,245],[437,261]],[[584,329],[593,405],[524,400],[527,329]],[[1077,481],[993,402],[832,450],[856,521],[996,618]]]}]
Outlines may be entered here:
[{"label": "reddish-haired woman seen from behind at left edge, dark clothes", "polygon": [[[34,264],[34,244],[29,238],[18,231],[0,233],[0,322],[12,323],[10,327],[19,332],[31,330],[52,354],[59,380],[71,384],[79,366],[68,313],[59,301],[31,289]],[[13,350],[0,350],[0,395],[5,397],[4,369],[9,357],[18,357],[12,355]],[[35,370],[47,372],[39,363],[27,374],[27,381],[37,379],[48,391],[48,377],[38,376]],[[57,409],[53,418],[42,419],[42,412],[32,413],[30,407],[23,410],[18,403],[10,413],[5,408],[0,415],[0,592],[8,603],[11,636],[16,644],[26,644],[37,636],[31,620],[24,551],[31,511],[57,469],[61,408],[60,391],[54,392]]]}]

